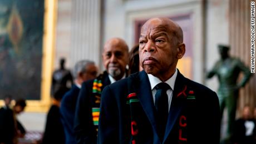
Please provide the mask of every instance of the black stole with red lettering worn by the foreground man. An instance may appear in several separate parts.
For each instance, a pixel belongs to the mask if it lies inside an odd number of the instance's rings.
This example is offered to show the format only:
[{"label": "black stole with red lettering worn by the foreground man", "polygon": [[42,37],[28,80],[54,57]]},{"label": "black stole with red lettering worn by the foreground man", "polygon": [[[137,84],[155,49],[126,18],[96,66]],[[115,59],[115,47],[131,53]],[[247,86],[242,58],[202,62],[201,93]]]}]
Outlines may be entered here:
[{"label": "black stole with red lettering worn by the foreground man", "polygon": [[[185,87],[182,92],[180,92],[177,96],[177,98],[186,98],[186,102],[189,103],[189,105],[184,108],[180,112],[180,115],[178,116],[178,119],[176,120],[176,123],[178,125],[178,129],[174,128],[176,133],[178,133],[178,143],[179,144],[186,144],[188,143],[188,130],[187,130],[187,110],[189,108],[193,108],[195,106],[195,95],[194,91],[187,90]],[[126,104],[130,107],[130,116],[131,116],[131,140],[130,143],[136,144],[138,143],[138,133],[140,132],[138,128],[138,121],[140,120],[141,113],[138,111],[142,106],[140,105],[139,99],[137,98],[136,93],[130,93],[126,97]]]}]

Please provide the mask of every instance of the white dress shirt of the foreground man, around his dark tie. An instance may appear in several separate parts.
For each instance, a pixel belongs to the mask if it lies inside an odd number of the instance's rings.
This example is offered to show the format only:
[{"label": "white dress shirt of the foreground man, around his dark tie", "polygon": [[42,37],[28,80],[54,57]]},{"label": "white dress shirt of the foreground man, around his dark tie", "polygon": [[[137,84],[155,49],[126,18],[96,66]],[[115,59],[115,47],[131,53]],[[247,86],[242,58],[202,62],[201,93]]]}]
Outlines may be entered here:
[{"label": "white dress shirt of the foreground man, around his dark tie", "polygon": [[[171,107],[171,99],[173,97],[173,90],[174,90],[174,85],[175,85],[177,73],[178,72],[177,72],[177,69],[176,69],[175,72],[174,72],[174,75],[171,76],[169,78],[169,80],[165,81],[165,83],[167,83],[171,87],[171,89],[166,91],[166,93],[168,95],[168,112],[170,111],[170,107]],[[155,104],[155,95],[156,95],[156,88],[155,88],[155,86],[158,83],[161,83],[162,81],[159,80],[159,78],[157,78],[157,77],[155,77],[155,76],[153,76],[151,74],[147,74],[147,76],[149,77],[149,82],[150,82],[150,86],[151,86],[153,101],[154,101],[154,104]]]}]

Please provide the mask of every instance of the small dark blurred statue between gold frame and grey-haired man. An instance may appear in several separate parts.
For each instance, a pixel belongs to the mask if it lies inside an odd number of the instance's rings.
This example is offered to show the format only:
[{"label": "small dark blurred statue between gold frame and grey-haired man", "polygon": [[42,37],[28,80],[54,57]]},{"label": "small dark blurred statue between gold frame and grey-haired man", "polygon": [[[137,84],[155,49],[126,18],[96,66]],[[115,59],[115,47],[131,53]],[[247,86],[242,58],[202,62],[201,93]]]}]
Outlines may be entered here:
[{"label": "small dark blurred statue between gold frame and grey-haired man", "polygon": [[62,89],[63,91],[70,90],[73,85],[73,78],[70,70],[65,68],[65,58],[60,59],[60,68],[53,72],[51,95]]}]

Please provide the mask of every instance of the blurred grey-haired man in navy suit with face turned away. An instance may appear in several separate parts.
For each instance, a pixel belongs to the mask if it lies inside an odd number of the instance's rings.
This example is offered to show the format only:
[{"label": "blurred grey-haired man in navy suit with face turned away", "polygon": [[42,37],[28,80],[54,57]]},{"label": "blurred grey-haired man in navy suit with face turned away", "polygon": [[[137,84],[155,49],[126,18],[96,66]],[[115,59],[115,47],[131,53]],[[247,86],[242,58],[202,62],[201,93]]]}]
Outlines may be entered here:
[{"label": "blurred grey-haired man in navy suit with face turned away", "polygon": [[65,143],[76,143],[73,123],[75,118],[76,101],[80,92],[82,82],[96,78],[98,69],[95,63],[88,60],[82,60],[75,64],[73,77],[75,85],[71,90],[65,93],[61,101],[61,122],[65,132]]}]

